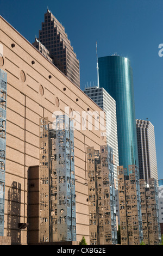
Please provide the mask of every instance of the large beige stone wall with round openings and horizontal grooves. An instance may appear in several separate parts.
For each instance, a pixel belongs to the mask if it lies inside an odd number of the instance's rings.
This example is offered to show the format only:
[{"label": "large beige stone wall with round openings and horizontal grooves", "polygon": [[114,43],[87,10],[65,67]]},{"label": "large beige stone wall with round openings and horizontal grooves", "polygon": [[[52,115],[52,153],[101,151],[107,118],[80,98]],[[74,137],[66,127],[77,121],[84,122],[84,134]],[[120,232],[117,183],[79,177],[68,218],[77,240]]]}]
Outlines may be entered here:
[{"label": "large beige stone wall with round openings and horizontal grooves", "polygon": [[[7,72],[4,236],[11,245],[39,242],[39,120],[53,113],[102,111],[70,79],[0,17],[0,68]],[[89,115],[89,114],[88,114]],[[77,241],[89,244],[86,148],[106,144],[102,128],[74,130]],[[89,120],[81,121],[89,123]],[[104,121],[104,120],[103,120]],[[96,127],[97,128],[97,127]],[[103,127],[104,129],[104,127]],[[24,229],[22,227],[24,223]],[[28,230],[28,232],[27,232]]]}]

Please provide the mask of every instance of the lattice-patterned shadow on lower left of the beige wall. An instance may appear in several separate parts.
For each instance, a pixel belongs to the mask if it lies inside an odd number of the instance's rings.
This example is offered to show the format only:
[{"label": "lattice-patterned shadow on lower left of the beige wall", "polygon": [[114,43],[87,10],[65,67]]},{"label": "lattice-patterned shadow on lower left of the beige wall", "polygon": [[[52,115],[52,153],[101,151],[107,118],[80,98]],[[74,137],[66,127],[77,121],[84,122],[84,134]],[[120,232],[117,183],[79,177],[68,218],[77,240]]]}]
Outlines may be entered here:
[{"label": "lattice-patterned shadow on lower left of the beige wall", "polygon": [[7,236],[11,237],[11,245],[21,244],[21,230],[18,229],[21,213],[21,184],[13,181],[8,191],[8,224]]}]

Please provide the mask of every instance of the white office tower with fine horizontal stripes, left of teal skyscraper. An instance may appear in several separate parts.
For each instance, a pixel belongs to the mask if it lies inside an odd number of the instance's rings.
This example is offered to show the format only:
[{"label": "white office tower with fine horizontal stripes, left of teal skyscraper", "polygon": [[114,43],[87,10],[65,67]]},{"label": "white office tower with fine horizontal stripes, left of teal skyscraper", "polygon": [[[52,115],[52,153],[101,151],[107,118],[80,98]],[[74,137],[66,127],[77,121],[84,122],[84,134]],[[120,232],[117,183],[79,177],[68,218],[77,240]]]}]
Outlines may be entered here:
[{"label": "white office tower with fine horizontal stripes, left of teal skyscraper", "polygon": [[106,117],[106,142],[109,147],[112,148],[115,165],[114,165],[114,178],[117,183],[117,166],[119,165],[118,160],[118,139],[117,139],[117,119],[116,119],[116,102],[106,92],[104,88],[87,87],[84,89],[84,93],[89,96],[99,107],[103,109]]}]

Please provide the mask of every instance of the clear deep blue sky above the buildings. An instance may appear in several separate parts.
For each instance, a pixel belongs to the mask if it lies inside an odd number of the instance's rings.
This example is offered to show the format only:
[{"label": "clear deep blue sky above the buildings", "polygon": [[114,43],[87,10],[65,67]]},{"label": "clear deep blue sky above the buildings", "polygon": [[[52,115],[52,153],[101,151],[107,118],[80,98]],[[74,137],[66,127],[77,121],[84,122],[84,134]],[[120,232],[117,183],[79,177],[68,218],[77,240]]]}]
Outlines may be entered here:
[{"label": "clear deep blue sky above the buildings", "polygon": [[49,10],[65,26],[80,61],[81,89],[96,82],[98,57],[117,53],[128,57],[134,75],[137,119],[155,127],[159,179],[163,179],[163,44],[162,0],[0,0],[0,14],[29,42],[39,35]]}]

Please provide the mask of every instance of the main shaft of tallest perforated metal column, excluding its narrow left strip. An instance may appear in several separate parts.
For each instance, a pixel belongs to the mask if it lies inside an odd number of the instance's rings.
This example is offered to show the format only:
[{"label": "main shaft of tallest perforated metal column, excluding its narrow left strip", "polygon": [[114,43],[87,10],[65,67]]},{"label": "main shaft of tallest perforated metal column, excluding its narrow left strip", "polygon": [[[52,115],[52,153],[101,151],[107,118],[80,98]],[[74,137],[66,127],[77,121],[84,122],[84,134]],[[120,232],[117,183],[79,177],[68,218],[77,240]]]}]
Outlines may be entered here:
[{"label": "main shaft of tallest perforated metal column, excluding its narrow left strip", "polygon": [[73,122],[66,115],[49,124],[49,179],[50,241],[76,241]]}]

